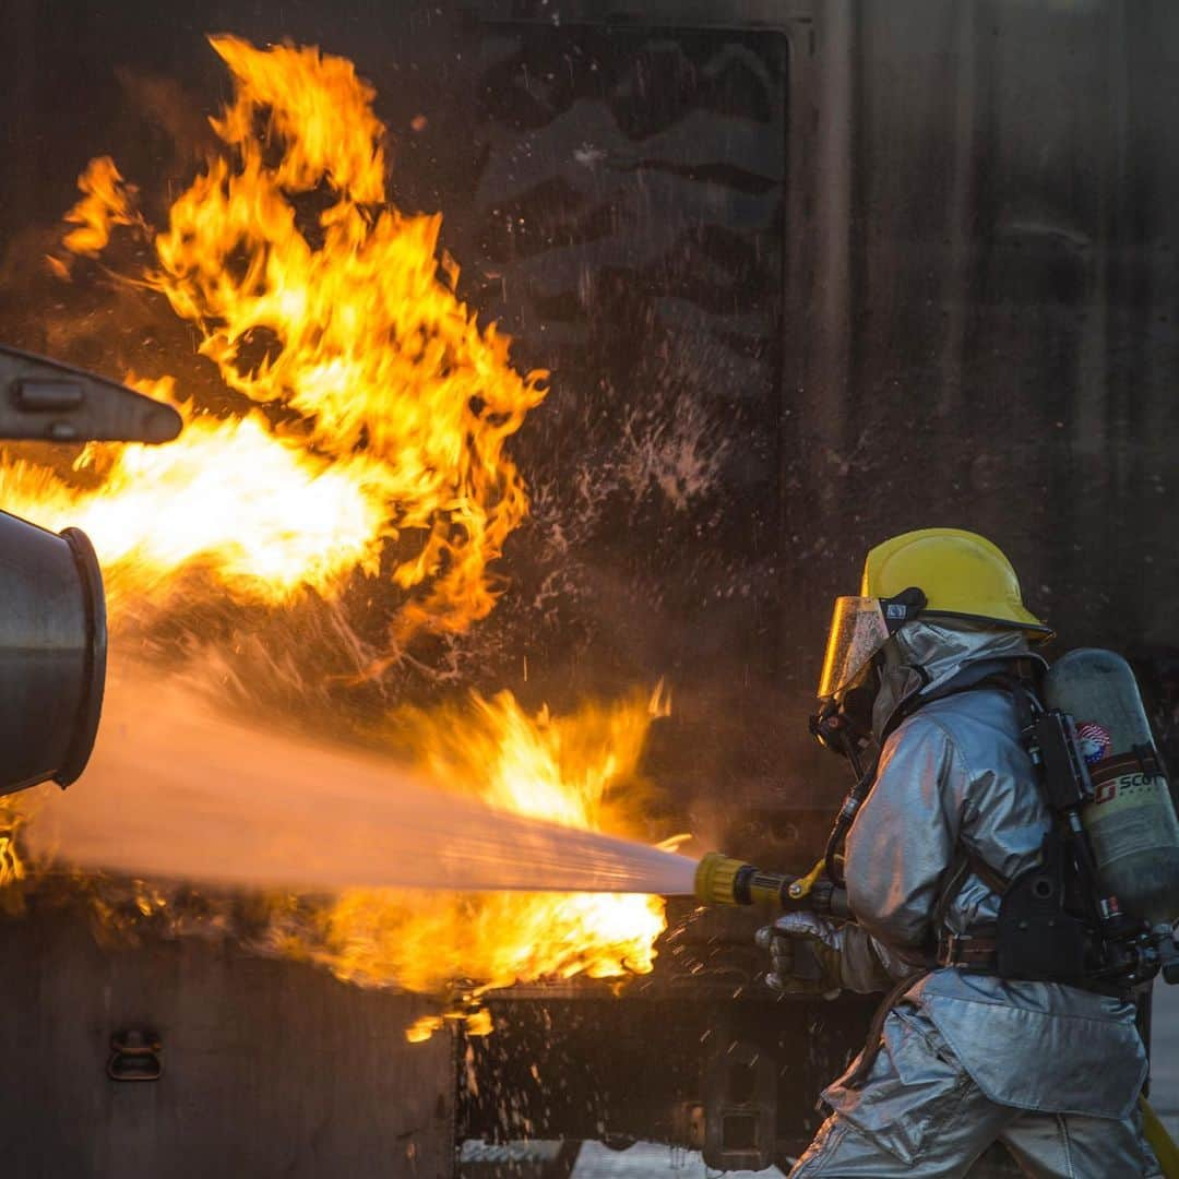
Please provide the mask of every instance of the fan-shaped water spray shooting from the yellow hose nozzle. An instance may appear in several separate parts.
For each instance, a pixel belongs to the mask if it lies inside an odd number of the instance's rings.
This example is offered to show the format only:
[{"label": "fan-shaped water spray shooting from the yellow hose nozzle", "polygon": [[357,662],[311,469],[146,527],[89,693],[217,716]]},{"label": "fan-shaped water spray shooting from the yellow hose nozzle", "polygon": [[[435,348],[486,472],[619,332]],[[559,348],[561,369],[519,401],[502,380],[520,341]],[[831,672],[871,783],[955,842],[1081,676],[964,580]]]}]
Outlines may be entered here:
[{"label": "fan-shaped water spray shooting from the yellow hose nozzle", "polygon": [[[444,784],[439,784],[444,786]],[[496,811],[368,750],[224,716],[177,679],[112,673],[98,743],[41,788],[34,854],[235,887],[690,894],[694,862]]]}]

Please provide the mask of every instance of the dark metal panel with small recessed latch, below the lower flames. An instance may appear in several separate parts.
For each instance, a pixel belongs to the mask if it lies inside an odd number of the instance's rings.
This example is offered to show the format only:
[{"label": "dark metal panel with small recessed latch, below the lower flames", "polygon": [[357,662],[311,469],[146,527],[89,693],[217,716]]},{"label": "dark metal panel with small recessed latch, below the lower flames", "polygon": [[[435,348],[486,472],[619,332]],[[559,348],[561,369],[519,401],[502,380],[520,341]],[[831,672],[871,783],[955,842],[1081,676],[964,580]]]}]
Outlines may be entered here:
[{"label": "dark metal panel with small recessed latch, below the lower flames", "polygon": [[[105,949],[60,910],[0,947],[11,1174],[450,1175],[454,1042],[404,1036],[426,1001],[202,937]],[[129,1032],[158,1036],[158,1080],[108,1075],[137,1075]]]}]

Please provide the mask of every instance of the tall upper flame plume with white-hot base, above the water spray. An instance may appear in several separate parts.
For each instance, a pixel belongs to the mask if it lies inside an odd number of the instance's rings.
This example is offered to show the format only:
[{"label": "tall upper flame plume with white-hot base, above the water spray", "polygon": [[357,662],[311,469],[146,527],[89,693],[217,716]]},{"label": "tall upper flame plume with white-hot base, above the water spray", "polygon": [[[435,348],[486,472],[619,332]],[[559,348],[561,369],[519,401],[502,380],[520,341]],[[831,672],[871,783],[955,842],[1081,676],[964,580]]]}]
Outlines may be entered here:
[{"label": "tall upper flame plume with white-hot base, above the water spray", "polygon": [[[527,514],[505,442],[545,374],[520,376],[508,340],[455,296],[441,217],[388,204],[384,127],[350,61],[210,41],[233,77],[211,120],[224,152],[172,204],[151,237],[157,265],[136,281],[197,329],[231,389],[285,424],[189,410],[158,454],[88,448],[79,466],[106,473],[97,486],[9,461],[0,494],[85,527],[117,581],[131,565],[132,582],[158,587],[199,560],[265,604],[299,587],[334,595],[354,571],[378,571],[387,540],[416,536],[393,568],[408,595],[394,638],[462,632],[493,608],[488,566]],[[79,186],[72,253],[99,255],[118,226],[151,236],[113,160],[93,160]],[[305,200],[325,203],[310,231]]]}]

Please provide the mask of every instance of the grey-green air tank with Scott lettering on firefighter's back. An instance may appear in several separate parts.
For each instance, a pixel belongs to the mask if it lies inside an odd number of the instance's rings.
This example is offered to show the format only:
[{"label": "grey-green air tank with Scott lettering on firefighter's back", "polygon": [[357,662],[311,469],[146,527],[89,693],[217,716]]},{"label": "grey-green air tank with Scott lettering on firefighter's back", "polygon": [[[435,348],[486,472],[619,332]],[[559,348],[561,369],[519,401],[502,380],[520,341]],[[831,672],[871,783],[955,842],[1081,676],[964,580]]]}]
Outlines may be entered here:
[{"label": "grey-green air tank with Scott lettering on firefighter's back", "polygon": [[1093,799],[1081,819],[1104,891],[1151,928],[1179,918],[1179,821],[1134,673],[1112,651],[1053,664],[1045,704],[1076,723]]}]

